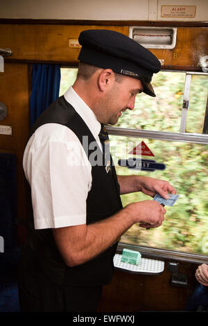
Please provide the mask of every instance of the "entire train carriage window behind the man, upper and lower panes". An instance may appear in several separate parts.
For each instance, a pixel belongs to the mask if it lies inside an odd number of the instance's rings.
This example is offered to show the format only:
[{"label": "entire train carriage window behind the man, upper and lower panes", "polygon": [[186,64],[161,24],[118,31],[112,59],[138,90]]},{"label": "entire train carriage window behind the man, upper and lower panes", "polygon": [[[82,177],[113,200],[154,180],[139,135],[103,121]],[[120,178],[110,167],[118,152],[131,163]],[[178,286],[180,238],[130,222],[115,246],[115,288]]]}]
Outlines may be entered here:
[{"label": "entire train carriage window behind the man, upper and lower panes", "polygon": [[[76,78],[77,69],[62,68],[60,95]],[[108,126],[111,152],[118,174],[148,175],[169,180],[180,195],[166,207],[160,228],[143,230],[133,225],[121,242],[178,252],[208,254],[208,74],[160,71],[153,78],[156,98],[138,94],[135,110],[123,112]],[[130,154],[145,145],[153,156]],[[165,164],[166,169],[138,171],[118,164],[137,157]],[[123,205],[149,198],[141,193],[122,195]]]}]

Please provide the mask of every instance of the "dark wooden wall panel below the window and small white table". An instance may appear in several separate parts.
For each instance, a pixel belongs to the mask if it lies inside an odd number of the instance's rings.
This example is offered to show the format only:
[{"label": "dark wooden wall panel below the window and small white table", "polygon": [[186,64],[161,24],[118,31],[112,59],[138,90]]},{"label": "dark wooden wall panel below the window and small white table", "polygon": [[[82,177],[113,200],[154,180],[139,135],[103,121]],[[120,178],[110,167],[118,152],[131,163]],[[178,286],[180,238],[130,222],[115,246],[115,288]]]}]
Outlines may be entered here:
[{"label": "dark wooden wall panel below the window and small white table", "polygon": [[115,271],[111,284],[104,286],[98,311],[184,311],[187,299],[196,284],[197,266],[181,263],[179,272],[187,275],[188,285],[171,285],[168,261],[160,275],[139,275]]}]

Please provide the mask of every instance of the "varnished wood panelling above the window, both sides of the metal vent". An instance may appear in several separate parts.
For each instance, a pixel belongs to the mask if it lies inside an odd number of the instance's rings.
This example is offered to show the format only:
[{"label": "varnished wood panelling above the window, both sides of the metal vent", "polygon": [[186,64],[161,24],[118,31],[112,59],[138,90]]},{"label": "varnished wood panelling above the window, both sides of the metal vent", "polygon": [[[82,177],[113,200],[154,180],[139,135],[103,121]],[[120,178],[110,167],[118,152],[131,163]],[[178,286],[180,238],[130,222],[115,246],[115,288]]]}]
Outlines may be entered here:
[{"label": "varnished wood panelling above the window, both sides of the metal vent", "polygon": [[[128,35],[128,26],[81,26],[50,24],[0,24],[1,48],[13,53],[8,61],[60,62],[77,64],[80,49],[69,48],[69,38],[78,39],[85,29],[105,28]],[[150,49],[164,66],[198,67],[200,55],[207,55],[208,28],[178,27],[175,49]]]}]

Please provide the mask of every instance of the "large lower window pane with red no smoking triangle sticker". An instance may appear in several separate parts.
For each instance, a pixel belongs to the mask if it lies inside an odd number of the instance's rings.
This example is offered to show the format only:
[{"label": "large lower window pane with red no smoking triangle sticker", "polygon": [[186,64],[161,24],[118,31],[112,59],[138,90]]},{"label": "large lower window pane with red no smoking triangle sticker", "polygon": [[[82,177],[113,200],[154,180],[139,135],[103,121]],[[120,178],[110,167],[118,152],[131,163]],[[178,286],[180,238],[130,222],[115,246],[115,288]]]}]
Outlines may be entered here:
[{"label": "large lower window pane with red no smoking triangle sticker", "polygon": [[[155,160],[166,169],[138,171],[119,166],[128,159],[132,148],[144,141],[155,157],[142,157],[143,162]],[[121,242],[166,250],[198,254],[208,253],[208,145],[132,137],[110,136],[112,156],[119,175],[146,175],[168,180],[180,195],[173,207],[166,206],[166,218],[160,228],[145,230],[133,225]],[[142,163],[140,166],[148,166]],[[150,199],[142,193],[121,195],[123,205]]]}]

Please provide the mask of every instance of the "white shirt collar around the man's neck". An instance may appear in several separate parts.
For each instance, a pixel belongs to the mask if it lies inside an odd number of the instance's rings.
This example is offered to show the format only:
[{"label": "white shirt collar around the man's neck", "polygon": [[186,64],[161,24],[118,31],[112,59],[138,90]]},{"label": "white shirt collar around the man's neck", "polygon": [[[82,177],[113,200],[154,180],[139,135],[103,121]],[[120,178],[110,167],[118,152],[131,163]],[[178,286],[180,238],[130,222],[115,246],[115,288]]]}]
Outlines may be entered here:
[{"label": "white shirt collar around the man's neck", "polygon": [[73,106],[76,112],[87,124],[89,130],[92,132],[92,135],[94,135],[94,138],[97,139],[98,133],[101,130],[101,123],[96,119],[94,112],[83,101],[83,99],[78,96],[72,86],[67,89],[67,92],[64,94],[64,98]]}]

